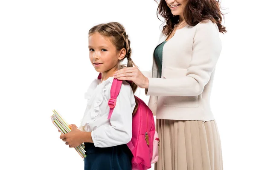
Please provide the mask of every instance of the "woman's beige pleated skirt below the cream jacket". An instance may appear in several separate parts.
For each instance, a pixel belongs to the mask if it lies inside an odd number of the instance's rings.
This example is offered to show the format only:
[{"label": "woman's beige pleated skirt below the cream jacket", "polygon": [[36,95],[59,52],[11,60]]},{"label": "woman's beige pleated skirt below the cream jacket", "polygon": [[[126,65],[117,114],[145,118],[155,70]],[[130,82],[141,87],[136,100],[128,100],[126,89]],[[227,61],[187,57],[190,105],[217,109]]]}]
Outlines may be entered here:
[{"label": "woman's beige pleated skirt below the cream jacket", "polygon": [[157,119],[156,129],[160,146],[155,170],[223,170],[215,120]]}]

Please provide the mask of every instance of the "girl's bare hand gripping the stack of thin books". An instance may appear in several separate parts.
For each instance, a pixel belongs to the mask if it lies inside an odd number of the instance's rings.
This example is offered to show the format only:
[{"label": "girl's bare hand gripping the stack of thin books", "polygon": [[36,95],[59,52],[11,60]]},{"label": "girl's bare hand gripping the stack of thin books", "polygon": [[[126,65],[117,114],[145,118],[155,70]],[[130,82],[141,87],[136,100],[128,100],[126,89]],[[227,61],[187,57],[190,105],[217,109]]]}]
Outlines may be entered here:
[{"label": "girl's bare hand gripping the stack of thin books", "polygon": [[61,134],[60,139],[66,142],[69,147],[77,147],[83,143],[82,136],[84,135],[81,130],[77,129],[76,125],[69,125],[71,131],[66,134]]}]

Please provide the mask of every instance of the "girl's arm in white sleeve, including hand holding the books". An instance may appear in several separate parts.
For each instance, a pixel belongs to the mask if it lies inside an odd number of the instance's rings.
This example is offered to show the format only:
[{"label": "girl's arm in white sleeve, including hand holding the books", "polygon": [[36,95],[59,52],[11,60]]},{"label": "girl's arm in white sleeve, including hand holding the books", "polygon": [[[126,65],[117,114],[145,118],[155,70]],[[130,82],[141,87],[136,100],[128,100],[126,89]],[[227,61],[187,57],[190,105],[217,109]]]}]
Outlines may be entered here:
[{"label": "girl's arm in white sleeve, including hand holding the books", "polygon": [[77,147],[83,142],[94,143],[96,147],[111,147],[127,144],[132,136],[132,112],[135,107],[134,94],[131,86],[123,82],[113,110],[111,126],[102,125],[92,132],[79,130],[70,125],[71,132],[62,134],[60,138],[69,147]]}]

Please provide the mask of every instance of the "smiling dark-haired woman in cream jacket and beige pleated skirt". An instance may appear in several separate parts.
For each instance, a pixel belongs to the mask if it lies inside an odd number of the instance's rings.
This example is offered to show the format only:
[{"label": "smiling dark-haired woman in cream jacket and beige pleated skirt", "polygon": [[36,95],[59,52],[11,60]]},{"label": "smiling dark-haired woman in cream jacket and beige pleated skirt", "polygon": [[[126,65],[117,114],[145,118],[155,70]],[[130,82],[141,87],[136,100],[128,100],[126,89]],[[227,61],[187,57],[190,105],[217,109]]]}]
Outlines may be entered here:
[{"label": "smiling dark-haired woman in cream jacket and beige pleated skirt", "polygon": [[150,95],[160,153],[156,170],[222,170],[221,142],[209,105],[221,53],[223,14],[216,0],[160,0],[166,25],[154,50],[151,77],[137,67],[114,76]]}]

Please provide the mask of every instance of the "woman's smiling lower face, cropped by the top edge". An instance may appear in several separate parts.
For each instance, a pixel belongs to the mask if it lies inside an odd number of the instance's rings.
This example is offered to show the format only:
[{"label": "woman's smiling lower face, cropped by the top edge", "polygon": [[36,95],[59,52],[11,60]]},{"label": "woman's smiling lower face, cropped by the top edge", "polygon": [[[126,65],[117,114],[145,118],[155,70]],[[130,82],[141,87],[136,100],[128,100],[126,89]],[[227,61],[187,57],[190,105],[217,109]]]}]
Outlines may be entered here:
[{"label": "woman's smiling lower face, cropped by the top edge", "polygon": [[165,0],[173,15],[183,15],[188,0]]}]

